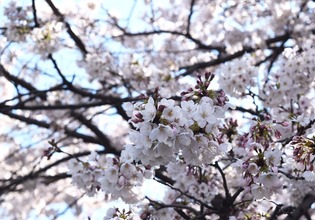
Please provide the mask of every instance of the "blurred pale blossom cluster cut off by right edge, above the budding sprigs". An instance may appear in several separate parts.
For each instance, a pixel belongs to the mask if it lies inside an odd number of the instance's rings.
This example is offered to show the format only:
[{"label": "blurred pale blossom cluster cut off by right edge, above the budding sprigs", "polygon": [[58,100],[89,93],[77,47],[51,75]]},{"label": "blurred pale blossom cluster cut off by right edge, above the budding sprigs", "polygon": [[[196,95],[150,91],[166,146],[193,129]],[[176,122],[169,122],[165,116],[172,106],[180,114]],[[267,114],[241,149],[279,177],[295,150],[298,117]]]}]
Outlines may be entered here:
[{"label": "blurred pale blossom cluster cut off by right edge, above the budding sprigs", "polygon": [[[261,90],[261,97],[266,106],[288,107],[292,100],[308,114],[314,111],[311,101],[306,96],[314,87],[315,49],[313,44],[314,41],[311,40],[305,42],[301,48],[288,48],[284,51],[279,61],[280,67],[272,72],[266,90]],[[301,51],[298,52],[298,50]]]}]

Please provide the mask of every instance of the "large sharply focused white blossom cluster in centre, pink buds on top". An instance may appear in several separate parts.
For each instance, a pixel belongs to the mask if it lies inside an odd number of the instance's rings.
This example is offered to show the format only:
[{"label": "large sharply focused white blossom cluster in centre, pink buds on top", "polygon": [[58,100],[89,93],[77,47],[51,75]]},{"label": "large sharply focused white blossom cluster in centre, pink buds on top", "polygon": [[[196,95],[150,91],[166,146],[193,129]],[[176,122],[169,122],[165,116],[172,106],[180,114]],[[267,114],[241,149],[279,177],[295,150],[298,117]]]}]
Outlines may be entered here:
[{"label": "large sharply focused white blossom cluster in centre, pink buds on top", "polygon": [[145,102],[126,105],[130,122],[130,144],[122,152],[127,162],[167,165],[182,158],[187,164],[211,163],[228,152],[220,140],[219,125],[224,119],[226,97],[209,89],[213,77],[200,77],[194,89],[182,93],[184,100],[149,97]]}]

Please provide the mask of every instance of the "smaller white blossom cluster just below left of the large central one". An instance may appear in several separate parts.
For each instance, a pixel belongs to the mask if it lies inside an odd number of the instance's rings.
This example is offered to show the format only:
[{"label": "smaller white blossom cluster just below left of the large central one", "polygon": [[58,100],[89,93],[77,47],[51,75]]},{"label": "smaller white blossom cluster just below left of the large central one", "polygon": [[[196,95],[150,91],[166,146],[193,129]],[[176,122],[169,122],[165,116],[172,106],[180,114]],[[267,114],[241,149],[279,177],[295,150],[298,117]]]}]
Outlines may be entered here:
[{"label": "smaller white blossom cluster just below left of the large central one", "polygon": [[111,199],[122,198],[128,203],[138,202],[142,198],[138,188],[144,179],[152,176],[152,171],[141,165],[120,162],[95,152],[88,162],[70,160],[69,173],[73,183],[89,196],[102,190]]}]

